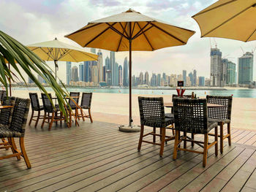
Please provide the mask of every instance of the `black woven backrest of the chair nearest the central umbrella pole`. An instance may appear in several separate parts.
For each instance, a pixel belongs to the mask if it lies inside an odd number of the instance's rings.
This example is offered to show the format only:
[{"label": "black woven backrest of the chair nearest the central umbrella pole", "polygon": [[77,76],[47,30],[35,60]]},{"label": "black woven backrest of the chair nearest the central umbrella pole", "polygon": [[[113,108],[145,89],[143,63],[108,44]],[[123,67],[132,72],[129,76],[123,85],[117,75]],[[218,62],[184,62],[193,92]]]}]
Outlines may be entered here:
[{"label": "black woven backrest of the chair nearest the central umbrella pole", "polygon": [[138,97],[140,124],[144,126],[165,127],[165,107],[162,97]]}]

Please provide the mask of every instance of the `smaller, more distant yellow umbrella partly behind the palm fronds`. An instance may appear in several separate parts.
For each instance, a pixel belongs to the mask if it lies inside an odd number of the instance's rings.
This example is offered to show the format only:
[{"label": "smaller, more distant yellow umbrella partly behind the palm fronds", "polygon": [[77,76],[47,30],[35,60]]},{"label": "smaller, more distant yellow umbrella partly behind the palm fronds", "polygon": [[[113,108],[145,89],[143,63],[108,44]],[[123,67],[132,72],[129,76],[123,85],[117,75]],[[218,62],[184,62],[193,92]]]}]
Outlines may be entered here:
[{"label": "smaller, more distant yellow umbrella partly behind the palm fronds", "polygon": [[82,48],[60,42],[57,38],[53,41],[39,42],[28,45],[30,50],[36,53],[39,58],[45,61],[54,61],[55,77],[57,77],[58,61],[97,61],[98,55],[87,53]]}]

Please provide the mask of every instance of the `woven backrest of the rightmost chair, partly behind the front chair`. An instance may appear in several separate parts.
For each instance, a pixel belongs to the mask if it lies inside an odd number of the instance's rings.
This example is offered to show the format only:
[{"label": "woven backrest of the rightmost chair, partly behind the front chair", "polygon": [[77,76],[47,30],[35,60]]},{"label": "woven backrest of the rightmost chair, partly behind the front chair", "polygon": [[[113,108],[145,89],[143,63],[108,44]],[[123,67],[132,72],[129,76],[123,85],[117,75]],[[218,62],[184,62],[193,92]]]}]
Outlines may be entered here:
[{"label": "woven backrest of the rightmost chair, partly behind the front chair", "polygon": [[231,120],[232,96],[206,96],[210,104],[224,105],[225,107],[209,107],[208,118]]}]

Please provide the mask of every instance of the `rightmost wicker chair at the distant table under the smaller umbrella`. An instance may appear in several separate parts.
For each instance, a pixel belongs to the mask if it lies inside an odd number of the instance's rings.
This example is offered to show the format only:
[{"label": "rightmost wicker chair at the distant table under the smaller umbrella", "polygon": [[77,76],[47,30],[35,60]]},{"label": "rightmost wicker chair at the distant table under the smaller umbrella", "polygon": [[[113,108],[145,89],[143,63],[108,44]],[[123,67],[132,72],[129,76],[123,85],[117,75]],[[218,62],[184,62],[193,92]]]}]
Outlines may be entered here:
[{"label": "rightmost wicker chair at the distant table under the smaller umbrella", "polygon": [[[79,118],[83,118],[83,121],[85,118],[90,118],[91,123],[94,121],[91,118],[91,98],[92,98],[92,93],[83,93],[82,94],[82,101],[80,104],[80,114],[78,115]],[[84,114],[83,110],[88,110],[89,115]]]}]

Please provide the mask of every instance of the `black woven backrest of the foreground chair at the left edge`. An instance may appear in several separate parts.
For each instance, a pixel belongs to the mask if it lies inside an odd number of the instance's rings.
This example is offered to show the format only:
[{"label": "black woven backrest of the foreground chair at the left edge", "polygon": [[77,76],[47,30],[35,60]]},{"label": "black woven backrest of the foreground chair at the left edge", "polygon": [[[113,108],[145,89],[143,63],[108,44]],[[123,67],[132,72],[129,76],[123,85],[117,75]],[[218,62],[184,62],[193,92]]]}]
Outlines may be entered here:
[{"label": "black woven backrest of the foreground chair at the left edge", "polygon": [[22,137],[25,134],[26,121],[29,115],[30,99],[16,98],[12,112],[10,130],[20,132]]}]

